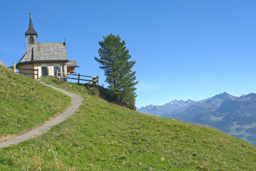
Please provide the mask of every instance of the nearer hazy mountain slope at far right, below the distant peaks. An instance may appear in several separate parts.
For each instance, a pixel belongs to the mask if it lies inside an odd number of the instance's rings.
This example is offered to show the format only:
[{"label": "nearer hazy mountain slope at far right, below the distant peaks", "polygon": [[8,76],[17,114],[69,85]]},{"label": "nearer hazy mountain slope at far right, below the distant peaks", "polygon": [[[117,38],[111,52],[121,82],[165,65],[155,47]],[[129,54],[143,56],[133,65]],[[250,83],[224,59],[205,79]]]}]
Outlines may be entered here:
[{"label": "nearer hazy mountain slope at far right, below the distant peaks", "polygon": [[211,110],[190,110],[178,115],[189,123],[210,125],[224,133],[234,135],[256,146],[256,94],[225,100],[218,108]]}]

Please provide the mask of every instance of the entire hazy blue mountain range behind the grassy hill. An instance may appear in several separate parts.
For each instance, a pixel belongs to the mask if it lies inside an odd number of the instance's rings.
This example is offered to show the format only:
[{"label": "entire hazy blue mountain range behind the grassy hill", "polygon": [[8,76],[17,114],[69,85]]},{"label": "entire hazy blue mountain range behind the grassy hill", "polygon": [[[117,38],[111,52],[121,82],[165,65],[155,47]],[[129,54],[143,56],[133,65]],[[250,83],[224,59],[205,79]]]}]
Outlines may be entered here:
[{"label": "entire hazy blue mountain range behind the grassy hill", "polygon": [[256,145],[256,94],[237,98],[226,92],[205,100],[173,100],[165,105],[147,105],[138,112],[188,123],[209,125]]}]

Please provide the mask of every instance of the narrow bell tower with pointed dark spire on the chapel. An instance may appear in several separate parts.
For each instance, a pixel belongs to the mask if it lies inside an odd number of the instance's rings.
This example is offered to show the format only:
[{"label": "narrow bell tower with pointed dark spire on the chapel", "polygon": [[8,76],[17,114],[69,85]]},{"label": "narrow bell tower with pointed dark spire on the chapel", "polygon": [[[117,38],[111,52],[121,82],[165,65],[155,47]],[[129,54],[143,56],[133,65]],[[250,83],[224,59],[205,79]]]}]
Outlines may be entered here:
[{"label": "narrow bell tower with pointed dark spire on the chapel", "polygon": [[31,19],[31,13],[29,14],[29,28],[25,33],[26,36],[26,51],[36,46],[37,43],[37,33],[34,29],[33,22]]}]

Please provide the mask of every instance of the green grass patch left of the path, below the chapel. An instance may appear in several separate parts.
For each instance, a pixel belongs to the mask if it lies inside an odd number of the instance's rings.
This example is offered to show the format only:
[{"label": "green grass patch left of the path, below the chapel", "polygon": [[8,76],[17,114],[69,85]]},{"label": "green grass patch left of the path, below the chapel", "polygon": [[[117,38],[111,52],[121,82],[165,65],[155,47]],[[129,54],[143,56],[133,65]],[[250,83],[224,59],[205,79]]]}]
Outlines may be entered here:
[{"label": "green grass patch left of the path, below the chapel", "polygon": [[0,140],[40,125],[71,105],[71,98],[0,65]]}]

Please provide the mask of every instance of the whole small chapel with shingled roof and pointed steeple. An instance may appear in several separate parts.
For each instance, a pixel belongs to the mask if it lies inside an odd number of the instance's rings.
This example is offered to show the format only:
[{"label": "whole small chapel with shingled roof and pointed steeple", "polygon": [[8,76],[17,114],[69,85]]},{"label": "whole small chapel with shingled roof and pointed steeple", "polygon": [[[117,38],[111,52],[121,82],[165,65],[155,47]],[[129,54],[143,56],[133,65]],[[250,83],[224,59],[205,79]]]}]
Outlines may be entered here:
[{"label": "whole small chapel with shingled roof and pointed steeple", "polygon": [[[63,43],[39,43],[38,34],[29,14],[29,28],[25,33],[26,53],[16,64],[19,74],[30,78],[45,76],[68,77],[77,67],[76,61],[68,61],[66,41]],[[62,80],[66,81],[65,78]]]}]

